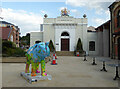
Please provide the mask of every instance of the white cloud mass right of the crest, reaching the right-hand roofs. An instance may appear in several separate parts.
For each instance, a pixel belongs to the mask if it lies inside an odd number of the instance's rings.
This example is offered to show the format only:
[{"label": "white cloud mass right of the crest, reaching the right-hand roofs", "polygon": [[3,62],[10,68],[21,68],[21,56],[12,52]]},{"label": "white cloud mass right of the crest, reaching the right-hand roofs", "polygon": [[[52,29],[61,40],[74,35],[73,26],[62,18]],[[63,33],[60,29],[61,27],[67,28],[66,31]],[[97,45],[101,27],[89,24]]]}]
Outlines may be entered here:
[{"label": "white cloud mass right of the crest, reaching the right-hand roofs", "polygon": [[74,7],[85,7],[88,8],[88,10],[94,9],[95,14],[105,15],[106,18],[96,17],[91,20],[96,26],[99,26],[110,19],[108,7],[114,1],[115,0],[66,0],[66,4]]}]

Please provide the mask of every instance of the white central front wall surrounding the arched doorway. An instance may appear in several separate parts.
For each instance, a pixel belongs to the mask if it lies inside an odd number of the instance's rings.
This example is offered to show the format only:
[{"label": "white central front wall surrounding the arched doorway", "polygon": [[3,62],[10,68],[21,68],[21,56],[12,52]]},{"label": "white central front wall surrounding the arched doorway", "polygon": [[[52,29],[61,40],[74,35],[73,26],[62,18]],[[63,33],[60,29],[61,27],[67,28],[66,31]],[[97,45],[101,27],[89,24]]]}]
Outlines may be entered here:
[{"label": "white central front wall surrounding the arched doorway", "polygon": [[59,16],[57,18],[45,18],[43,24],[43,41],[52,39],[57,51],[61,51],[61,33],[64,31],[67,31],[70,35],[70,51],[75,50],[78,38],[81,38],[84,45],[83,49],[88,50],[87,18]]}]

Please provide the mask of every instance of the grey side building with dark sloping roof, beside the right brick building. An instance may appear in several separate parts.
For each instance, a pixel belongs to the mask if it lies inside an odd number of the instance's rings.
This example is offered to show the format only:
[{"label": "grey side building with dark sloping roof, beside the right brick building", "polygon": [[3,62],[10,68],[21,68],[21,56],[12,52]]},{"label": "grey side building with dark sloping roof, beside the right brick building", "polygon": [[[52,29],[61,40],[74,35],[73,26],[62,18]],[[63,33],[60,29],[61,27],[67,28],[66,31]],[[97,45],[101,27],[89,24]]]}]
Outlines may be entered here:
[{"label": "grey side building with dark sloping roof, beside the right brick building", "polygon": [[110,20],[96,28],[98,53],[100,56],[110,56]]}]

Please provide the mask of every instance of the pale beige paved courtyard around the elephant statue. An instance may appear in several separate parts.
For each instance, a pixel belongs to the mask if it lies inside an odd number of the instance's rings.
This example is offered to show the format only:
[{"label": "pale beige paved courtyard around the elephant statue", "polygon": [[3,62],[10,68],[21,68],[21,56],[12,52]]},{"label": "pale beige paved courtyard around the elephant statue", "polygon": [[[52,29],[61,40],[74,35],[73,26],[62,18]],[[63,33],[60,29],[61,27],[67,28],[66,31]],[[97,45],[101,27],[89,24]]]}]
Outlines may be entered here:
[{"label": "pale beige paved courtyard around the elephant statue", "polygon": [[[108,72],[100,71],[102,62],[91,65],[91,57],[83,61],[83,57],[59,56],[58,65],[46,64],[47,73],[52,80],[42,80],[29,84],[20,76],[25,69],[24,63],[2,64],[2,87],[118,87],[118,80],[114,81],[115,68],[106,66]],[[115,61],[109,61],[108,64]]]}]

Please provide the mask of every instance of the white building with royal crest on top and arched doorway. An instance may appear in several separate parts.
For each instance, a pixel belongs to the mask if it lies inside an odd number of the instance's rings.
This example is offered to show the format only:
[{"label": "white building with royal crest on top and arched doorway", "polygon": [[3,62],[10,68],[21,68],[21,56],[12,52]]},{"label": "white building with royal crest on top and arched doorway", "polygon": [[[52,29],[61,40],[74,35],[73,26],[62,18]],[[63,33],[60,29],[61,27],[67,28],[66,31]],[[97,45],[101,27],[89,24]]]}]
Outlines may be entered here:
[{"label": "white building with royal crest on top and arched doorway", "polygon": [[84,51],[90,55],[98,55],[97,33],[88,32],[87,25],[85,15],[83,18],[74,18],[68,15],[66,9],[57,18],[47,18],[45,15],[41,31],[30,33],[30,46],[37,40],[52,40],[56,51],[74,51],[80,38]]}]

